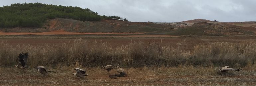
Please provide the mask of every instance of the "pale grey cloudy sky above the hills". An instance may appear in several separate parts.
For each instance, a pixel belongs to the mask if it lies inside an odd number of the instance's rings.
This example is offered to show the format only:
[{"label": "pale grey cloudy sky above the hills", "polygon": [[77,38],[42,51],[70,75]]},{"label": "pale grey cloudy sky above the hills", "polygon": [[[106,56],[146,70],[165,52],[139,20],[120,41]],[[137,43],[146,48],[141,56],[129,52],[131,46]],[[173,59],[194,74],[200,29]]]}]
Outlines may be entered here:
[{"label": "pale grey cloudy sky above the hills", "polygon": [[0,6],[25,2],[78,6],[140,22],[256,21],[256,0],[0,0]]}]

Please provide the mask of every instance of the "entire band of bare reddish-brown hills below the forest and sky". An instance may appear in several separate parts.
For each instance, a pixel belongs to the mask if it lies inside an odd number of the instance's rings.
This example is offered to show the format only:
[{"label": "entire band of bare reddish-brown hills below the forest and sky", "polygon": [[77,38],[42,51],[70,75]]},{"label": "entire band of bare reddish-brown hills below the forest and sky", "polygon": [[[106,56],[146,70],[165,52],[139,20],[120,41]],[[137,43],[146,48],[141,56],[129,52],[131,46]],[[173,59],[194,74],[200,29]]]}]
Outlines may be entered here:
[{"label": "entire band of bare reddish-brown hills below the forest and sky", "polygon": [[68,31],[68,32],[102,32],[102,33],[145,33],[152,35],[244,35],[255,34],[241,26],[227,23],[206,23],[199,22],[192,26],[172,28],[169,25],[146,23],[146,22],[128,22],[120,20],[102,20],[102,21],[79,21],[74,19],[55,18],[47,20],[42,28],[36,27],[16,27],[0,29],[2,32],[50,32],[50,31]]}]

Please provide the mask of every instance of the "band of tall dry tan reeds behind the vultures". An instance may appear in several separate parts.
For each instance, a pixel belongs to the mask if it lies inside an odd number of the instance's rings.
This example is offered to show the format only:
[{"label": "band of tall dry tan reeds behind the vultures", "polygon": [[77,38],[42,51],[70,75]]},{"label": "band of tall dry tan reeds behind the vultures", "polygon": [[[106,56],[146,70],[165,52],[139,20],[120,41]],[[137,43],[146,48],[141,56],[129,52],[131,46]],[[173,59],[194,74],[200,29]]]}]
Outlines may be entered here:
[{"label": "band of tall dry tan reeds behind the vultures", "polygon": [[215,42],[196,45],[193,50],[161,46],[157,42],[143,41],[111,47],[111,43],[75,40],[59,45],[17,45],[0,42],[2,66],[12,66],[20,52],[29,52],[30,66],[82,65],[89,67],[120,64],[122,67],[143,66],[246,66],[256,62],[256,43]]}]

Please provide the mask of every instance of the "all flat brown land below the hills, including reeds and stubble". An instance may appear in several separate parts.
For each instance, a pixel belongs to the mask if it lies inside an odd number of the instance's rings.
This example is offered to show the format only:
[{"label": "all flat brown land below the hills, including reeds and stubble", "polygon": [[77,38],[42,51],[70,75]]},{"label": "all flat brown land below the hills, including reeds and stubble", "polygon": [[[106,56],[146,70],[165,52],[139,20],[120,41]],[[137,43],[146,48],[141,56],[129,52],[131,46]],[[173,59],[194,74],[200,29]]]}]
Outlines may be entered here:
[{"label": "all flat brown land below the hills, including reeds and stubble", "polygon": [[[1,38],[0,85],[256,85],[256,37]],[[29,68],[14,68],[29,52]],[[101,66],[120,64],[110,79]],[[34,69],[46,66],[47,76]],[[242,68],[219,74],[220,67]],[[80,67],[89,76],[72,75]]]}]

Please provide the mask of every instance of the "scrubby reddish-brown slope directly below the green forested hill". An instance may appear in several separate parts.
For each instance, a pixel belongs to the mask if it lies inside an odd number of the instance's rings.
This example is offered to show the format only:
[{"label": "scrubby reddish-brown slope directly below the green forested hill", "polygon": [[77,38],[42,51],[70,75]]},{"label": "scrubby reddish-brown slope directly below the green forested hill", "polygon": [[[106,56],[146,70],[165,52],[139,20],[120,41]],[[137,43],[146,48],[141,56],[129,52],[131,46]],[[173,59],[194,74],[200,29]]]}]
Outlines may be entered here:
[{"label": "scrubby reddish-brown slope directly below the green forested hill", "polygon": [[[56,18],[47,20],[43,28],[8,28],[0,29],[2,32],[49,32],[56,30],[64,30],[68,32],[157,32],[165,28],[167,25],[160,25],[146,22],[127,22],[120,20],[102,20],[102,21],[79,21],[74,19]],[[5,31],[6,30],[6,31]]]}]

